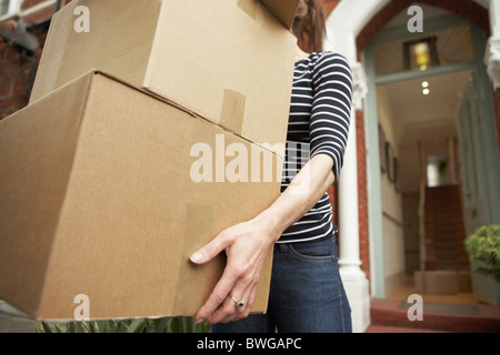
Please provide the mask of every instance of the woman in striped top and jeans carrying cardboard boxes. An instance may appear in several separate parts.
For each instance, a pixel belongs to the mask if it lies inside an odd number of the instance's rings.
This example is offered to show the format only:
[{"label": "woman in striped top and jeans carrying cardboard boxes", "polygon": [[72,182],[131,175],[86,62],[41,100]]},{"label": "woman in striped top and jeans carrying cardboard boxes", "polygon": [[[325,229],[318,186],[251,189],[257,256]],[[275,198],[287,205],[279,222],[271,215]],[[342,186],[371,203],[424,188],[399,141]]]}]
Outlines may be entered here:
[{"label": "woman in striped top and jeans carrying cardboard boxes", "polygon": [[[352,80],[341,55],[321,51],[319,0],[301,1],[293,31],[314,52],[297,51],[282,193],[257,217],[223,231],[191,256],[204,264],[227,253],[223,275],[197,314],[198,323],[214,324],[213,332],[351,332],[326,192],[343,163]],[[268,313],[249,316],[273,245]]]}]

